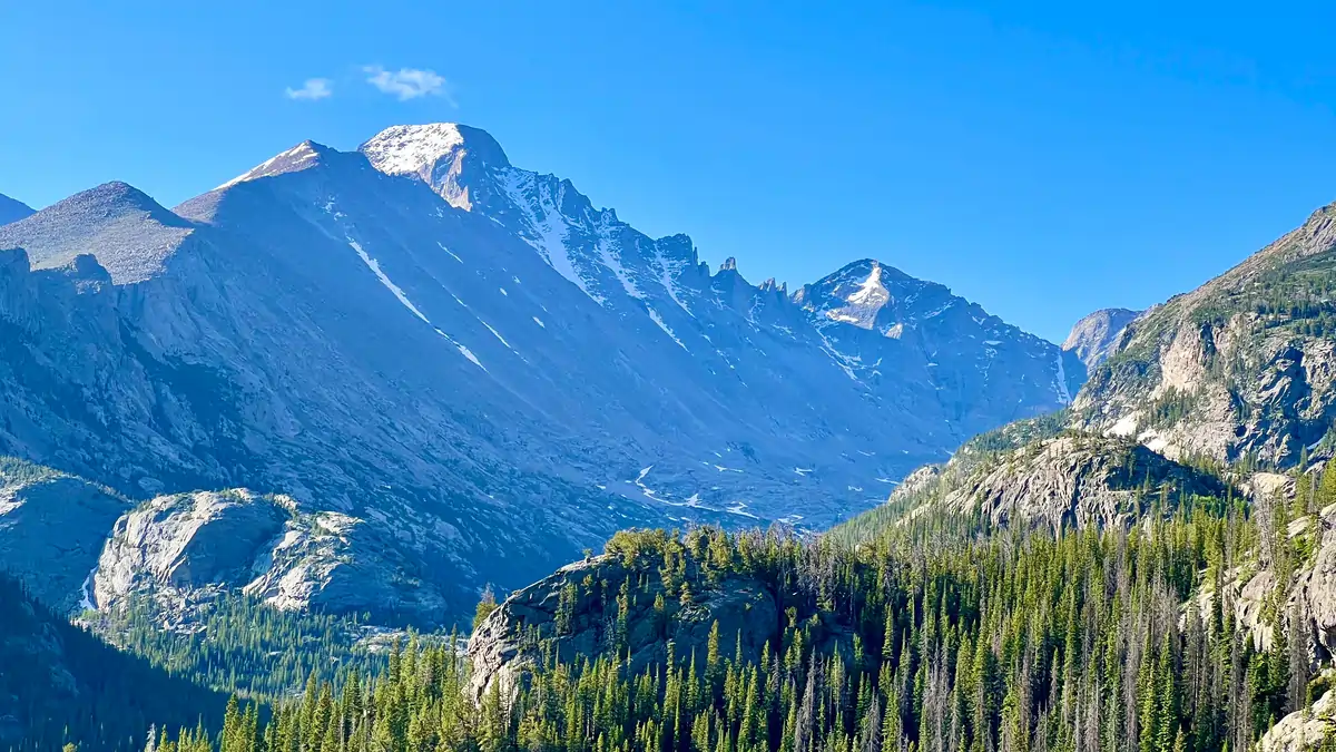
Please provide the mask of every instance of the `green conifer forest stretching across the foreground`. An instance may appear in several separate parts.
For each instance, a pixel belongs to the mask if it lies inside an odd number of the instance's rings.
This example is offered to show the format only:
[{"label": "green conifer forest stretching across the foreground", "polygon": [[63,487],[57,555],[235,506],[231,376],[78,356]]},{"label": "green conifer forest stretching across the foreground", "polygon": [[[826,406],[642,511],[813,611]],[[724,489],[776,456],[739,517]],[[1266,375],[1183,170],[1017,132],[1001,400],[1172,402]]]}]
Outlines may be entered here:
[{"label": "green conifer forest stretching across the foreground", "polygon": [[[1272,521],[1275,522],[1275,521]],[[343,752],[1225,752],[1248,749],[1313,682],[1308,618],[1268,598],[1269,644],[1236,624],[1226,583],[1259,551],[1300,554],[1241,503],[1194,504],[1130,531],[943,533],[942,519],[856,549],[771,533],[623,533],[635,573],[591,575],[597,654],[530,634],[538,669],[478,701],[453,646],[407,645],[342,692],[310,682],[270,723],[232,708],[223,732],[159,749]],[[946,545],[949,543],[949,545]],[[1271,562],[1263,562],[1269,566]],[[1292,570],[1293,566],[1289,567]],[[593,571],[600,571],[595,567]],[[632,670],[627,624],[703,607],[725,578],[778,599],[759,654],[741,634]],[[1284,587],[1281,583],[1277,587]],[[1276,595],[1279,595],[1277,590]],[[564,595],[565,599],[565,595]],[[560,614],[557,622],[560,622]],[[766,629],[767,625],[758,625]],[[664,634],[671,630],[664,629]]]}]

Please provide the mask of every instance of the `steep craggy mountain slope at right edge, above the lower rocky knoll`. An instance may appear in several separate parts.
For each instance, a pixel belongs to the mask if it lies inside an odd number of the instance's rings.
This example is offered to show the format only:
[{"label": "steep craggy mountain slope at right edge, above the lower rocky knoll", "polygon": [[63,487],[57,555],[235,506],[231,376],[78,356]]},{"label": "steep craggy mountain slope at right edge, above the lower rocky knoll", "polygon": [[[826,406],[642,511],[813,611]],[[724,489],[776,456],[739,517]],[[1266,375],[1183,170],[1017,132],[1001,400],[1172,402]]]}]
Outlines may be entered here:
[{"label": "steep craggy mountain slope at right edge, above the lower rocky knoll", "polygon": [[1291,467],[1336,423],[1336,205],[1128,325],[1075,423],[1170,455]]}]

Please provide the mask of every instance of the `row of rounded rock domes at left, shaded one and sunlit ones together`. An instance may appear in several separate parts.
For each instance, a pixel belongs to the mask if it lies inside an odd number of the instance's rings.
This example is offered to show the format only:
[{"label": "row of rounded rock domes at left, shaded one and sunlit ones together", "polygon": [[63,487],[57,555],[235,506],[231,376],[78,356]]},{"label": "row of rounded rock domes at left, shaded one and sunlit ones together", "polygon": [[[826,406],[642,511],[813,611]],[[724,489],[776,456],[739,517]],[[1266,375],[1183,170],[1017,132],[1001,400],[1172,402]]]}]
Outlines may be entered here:
[{"label": "row of rounded rock domes at left, shaded one and sunlit ones together", "polygon": [[244,488],[135,504],[48,467],[0,458],[0,569],[57,613],[152,598],[182,624],[223,591],[279,609],[448,622],[441,589],[365,519]]}]

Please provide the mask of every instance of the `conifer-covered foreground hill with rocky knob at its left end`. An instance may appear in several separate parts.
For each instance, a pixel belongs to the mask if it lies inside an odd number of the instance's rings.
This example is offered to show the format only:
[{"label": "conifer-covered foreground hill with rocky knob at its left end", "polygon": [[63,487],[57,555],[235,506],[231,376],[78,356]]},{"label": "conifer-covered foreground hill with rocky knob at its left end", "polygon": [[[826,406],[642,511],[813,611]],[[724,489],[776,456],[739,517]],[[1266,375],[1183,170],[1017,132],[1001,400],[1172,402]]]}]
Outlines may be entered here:
[{"label": "conifer-covered foreground hill with rocky knob at its left end", "polygon": [[[625,533],[486,613],[460,704],[520,748],[612,728],[632,749],[1224,752],[1276,727],[1304,745],[1263,748],[1329,749],[1301,709],[1333,678],[1331,516],[1238,511],[1042,533],[934,515],[856,547]],[[1316,593],[1273,586],[1295,569]]]}]

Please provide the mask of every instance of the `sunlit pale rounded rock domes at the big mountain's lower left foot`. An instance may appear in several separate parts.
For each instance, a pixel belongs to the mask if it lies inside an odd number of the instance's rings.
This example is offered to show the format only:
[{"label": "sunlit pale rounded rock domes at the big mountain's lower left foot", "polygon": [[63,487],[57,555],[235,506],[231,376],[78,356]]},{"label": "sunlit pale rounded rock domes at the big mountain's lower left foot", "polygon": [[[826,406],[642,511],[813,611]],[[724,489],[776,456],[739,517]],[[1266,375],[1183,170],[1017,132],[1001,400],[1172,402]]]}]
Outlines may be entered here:
[{"label": "sunlit pale rounded rock domes at the big mountain's lower left foot", "polygon": [[363,521],[309,512],[247,490],[159,496],[120,518],[92,578],[94,605],[131,595],[171,602],[164,616],[242,590],[281,609],[369,612],[382,621],[438,625],[445,601],[410,582],[403,562]]}]

